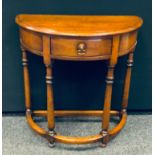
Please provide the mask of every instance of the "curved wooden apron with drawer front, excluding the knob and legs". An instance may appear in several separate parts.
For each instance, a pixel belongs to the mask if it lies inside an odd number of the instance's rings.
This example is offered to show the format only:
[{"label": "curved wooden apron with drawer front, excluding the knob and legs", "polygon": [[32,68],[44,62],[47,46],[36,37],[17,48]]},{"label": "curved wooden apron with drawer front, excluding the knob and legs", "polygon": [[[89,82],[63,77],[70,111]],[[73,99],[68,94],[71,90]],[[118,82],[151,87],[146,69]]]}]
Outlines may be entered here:
[{"label": "curved wooden apron with drawer front, excluding the knob and legs", "polygon": [[[20,42],[25,49],[34,54],[43,56],[43,34],[20,29]],[[120,35],[119,56],[127,54],[136,44],[137,31]],[[85,43],[85,54],[80,55],[77,45]],[[111,57],[112,36],[101,37],[69,37],[52,36],[50,57],[66,60],[104,60]],[[69,51],[69,52],[68,52]]]}]

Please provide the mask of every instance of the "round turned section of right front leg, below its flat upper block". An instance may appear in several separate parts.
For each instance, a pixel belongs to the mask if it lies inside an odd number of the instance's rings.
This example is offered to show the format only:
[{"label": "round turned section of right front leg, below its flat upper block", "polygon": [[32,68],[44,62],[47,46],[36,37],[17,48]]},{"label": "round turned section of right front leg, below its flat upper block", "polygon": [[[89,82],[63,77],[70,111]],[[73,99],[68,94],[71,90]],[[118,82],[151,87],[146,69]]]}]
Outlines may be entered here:
[{"label": "round turned section of right front leg, below its flat upper block", "polygon": [[108,66],[108,73],[106,77],[106,90],[105,90],[105,98],[104,98],[104,114],[102,119],[102,131],[101,134],[103,136],[102,139],[102,147],[105,147],[109,136],[108,136],[108,128],[110,121],[110,109],[111,109],[111,97],[112,97],[112,84],[114,79],[114,66]]}]

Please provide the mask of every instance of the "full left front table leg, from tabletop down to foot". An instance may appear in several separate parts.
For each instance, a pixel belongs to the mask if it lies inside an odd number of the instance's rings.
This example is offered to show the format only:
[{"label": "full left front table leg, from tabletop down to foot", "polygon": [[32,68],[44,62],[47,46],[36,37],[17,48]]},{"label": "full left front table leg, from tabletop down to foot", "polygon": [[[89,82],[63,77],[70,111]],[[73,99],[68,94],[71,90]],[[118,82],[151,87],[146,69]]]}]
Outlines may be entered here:
[{"label": "full left front table leg, from tabletop down to foot", "polygon": [[43,60],[46,66],[46,86],[47,86],[47,121],[48,121],[48,140],[49,146],[54,146],[54,101],[53,101],[53,87],[52,87],[52,62],[51,62],[51,45],[50,36],[43,35]]}]

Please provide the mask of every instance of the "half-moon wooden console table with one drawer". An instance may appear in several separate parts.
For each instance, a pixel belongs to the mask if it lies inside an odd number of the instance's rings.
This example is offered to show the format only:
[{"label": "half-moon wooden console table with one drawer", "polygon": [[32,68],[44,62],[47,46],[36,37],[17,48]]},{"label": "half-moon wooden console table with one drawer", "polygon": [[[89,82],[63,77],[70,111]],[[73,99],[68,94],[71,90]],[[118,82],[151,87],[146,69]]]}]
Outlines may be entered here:
[{"label": "half-moon wooden console table with one drawer", "polygon": [[[29,126],[47,138],[49,145],[56,142],[87,144],[101,141],[102,146],[114,137],[125,125],[130,87],[131,67],[137,44],[137,31],[143,21],[137,16],[75,16],[75,15],[28,15],[16,16],[20,29],[20,44],[24,71],[26,118]],[[47,110],[31,110],[30,81],[27,51],[42,56],[46,67]],[[120,56],[128,55],[127,70],[121,110],[111,110],[114,68]],[[54,110],[52,88],[52,61],[107,60],[108,71],[103,110],[64,111]],[[62,136],[54,130],[55,116],[100,116],[102,128],[97,135],[86,137]],[[39,127],[32,116],[47,117],[48,131]],[[120,117],[120,122],[109,129],[110,116]]]}]

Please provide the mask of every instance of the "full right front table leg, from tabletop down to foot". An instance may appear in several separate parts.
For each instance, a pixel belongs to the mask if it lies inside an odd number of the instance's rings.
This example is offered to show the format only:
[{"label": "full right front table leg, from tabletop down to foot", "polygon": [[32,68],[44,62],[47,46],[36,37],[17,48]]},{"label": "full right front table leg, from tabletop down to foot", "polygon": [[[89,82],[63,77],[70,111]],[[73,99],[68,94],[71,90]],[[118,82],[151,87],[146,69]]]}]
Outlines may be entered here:
[{"label": "full right front table leg, from tabletop down to foot", "polygon": [[102,118],[102,146],[105,147],[109,141],[109,121],[110,121],[110,109],[111,109],[111,97],[112,97],[112,84],[114,80],[114,67],[117,64],[118,52],[120,45],[120,36],[115,35],[112,39],[112,53],[109,60],[108,72],[106,77],[106,90],[104,97],[104,113]]}]

